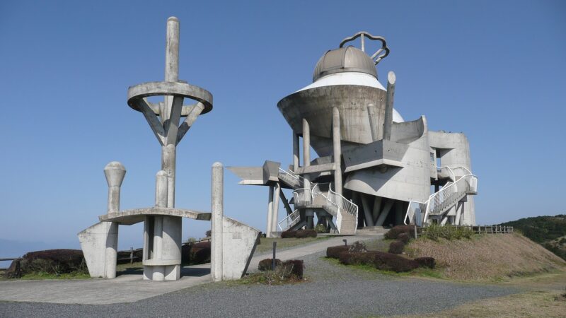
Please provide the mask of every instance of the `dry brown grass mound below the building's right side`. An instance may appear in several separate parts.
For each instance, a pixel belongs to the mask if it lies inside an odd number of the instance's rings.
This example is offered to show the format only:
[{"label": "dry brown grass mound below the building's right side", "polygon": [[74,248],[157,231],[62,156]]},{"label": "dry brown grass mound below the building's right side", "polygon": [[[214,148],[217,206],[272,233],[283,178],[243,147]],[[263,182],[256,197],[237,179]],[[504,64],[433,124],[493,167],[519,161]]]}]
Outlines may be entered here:
[{"label": "dry brown grass mound below the building's right side", "polygon": [[443,276],[460,280],[499,280],[566,269],[566,261],[520,234],[412,240],[405,251],[411,257],[434,257]]}]

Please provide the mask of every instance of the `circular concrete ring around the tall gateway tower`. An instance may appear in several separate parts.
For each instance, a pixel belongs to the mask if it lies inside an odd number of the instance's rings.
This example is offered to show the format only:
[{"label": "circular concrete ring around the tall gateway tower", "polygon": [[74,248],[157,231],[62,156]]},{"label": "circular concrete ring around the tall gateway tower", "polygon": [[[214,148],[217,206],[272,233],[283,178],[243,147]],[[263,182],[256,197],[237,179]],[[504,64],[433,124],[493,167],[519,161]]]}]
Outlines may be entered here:
[{"label": "circular concrete ring around the tall gateway tower", "polygon": [[128,105],[139,112],[137,100],[149,96],[163,95],[183,96],[202,102],[204,104],[202,114],[212,110],[212,94],[208,90],[180,82],[146,82],[130,86],[128,88]]}]

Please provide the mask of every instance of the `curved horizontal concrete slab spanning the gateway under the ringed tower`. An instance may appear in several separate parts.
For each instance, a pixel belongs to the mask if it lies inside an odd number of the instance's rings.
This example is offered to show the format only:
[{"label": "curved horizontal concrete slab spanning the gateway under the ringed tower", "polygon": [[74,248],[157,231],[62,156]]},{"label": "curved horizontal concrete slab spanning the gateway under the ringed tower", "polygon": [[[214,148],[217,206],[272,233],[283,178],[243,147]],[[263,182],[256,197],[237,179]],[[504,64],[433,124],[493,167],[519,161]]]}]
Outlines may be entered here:
[{"label": "curved horizontal concrete slab spanning the gateway under the ringed tower", "polygon": [[108,213],[98,217],[101,222],[117,222],[123,225],[132,225],[143,222],[146,216],[180,216],[193,220],[210,220],[210,212],[186,210],[183,208],[135,208],[116,213]]}]

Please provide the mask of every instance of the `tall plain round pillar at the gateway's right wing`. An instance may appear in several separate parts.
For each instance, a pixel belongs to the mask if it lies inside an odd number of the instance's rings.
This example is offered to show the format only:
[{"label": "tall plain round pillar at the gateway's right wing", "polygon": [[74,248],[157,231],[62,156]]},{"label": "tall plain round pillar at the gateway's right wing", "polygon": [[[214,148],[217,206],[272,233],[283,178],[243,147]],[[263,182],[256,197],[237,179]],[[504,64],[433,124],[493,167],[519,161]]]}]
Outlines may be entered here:
[{"label": "tall plain round pillar at the gateway's right wing", "polygon": [[222,233],[224,218],[224,166],[221,163],[212,165],[212,199],[210,203],[211,218],[211,254],[210,273],[213,281],[221,281],[223,275]]}]

